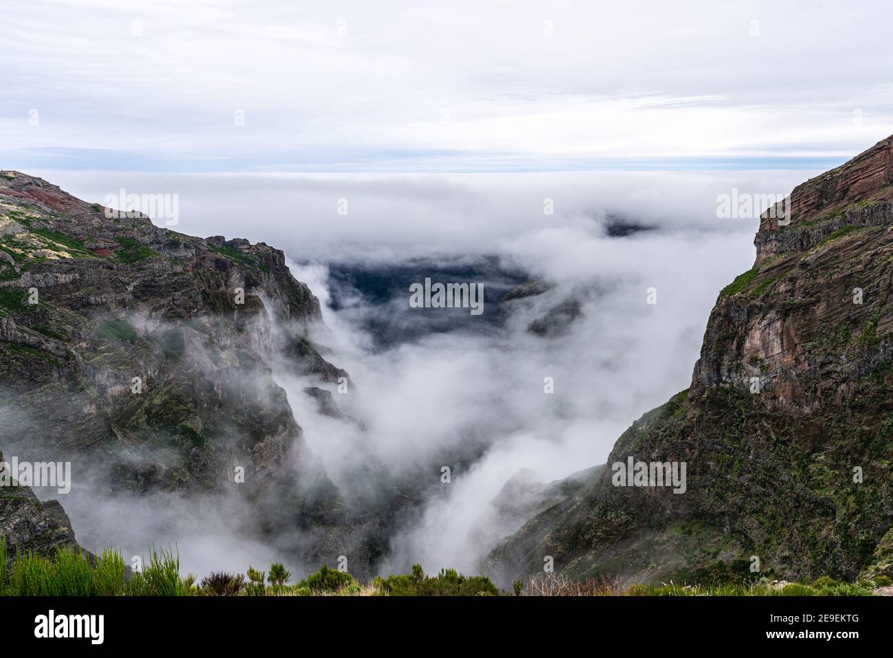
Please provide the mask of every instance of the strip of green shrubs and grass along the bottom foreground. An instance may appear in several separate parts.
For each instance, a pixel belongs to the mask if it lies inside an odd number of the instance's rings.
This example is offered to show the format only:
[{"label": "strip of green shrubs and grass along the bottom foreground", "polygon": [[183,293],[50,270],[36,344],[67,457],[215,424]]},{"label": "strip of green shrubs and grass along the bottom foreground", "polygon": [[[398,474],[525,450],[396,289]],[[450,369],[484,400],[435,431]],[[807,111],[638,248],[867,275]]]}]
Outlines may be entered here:
[{"label": "strip of green shrubs and grass along the bottom foreground", "polygon": [[[152,550],[142,572],[128,577],[121,552],[105,549],[99,555],[77,548],[58,547],[51,556],[36,553],[16,555],[9,563],[4,537],[0,536],[0,595],[25,596],[183,596],[183,595],[360,595],[363,586],[350,574],[329,569],[325,564],[316,573],[289,586],[290,574],[277,562],[268,573],[248,567],[243,574],[217,572],[194,586],[196,577],[179,575],[179,553]],[[8,578],[6,572],[8,569]],[[574,581],[568,582],[573,584]],[[878,576],[858,583],[840,582],[830,577],[813,582],[777,583],[769,578],[750,582],[722,582],[689,585],[599,586],[591,592],[573,587],[571,595],[645,595],[645,596],[864,596],[875,588],[889,586],[890,580]],[[516,595],[529,595],[521,581],[513,584]],[[585,591],[584,591],[585,590]],[[410,574],[375,578],[367,594],[393,596],[473,596],[499,595],[497,587],[483,576],[464,576],[455,569],[443,569],[436,577],[426,576],[421,566],[413,565]],[[543,595],[561,595],[561,593]],[[565,593],[565,595],[567,595]]]}]

